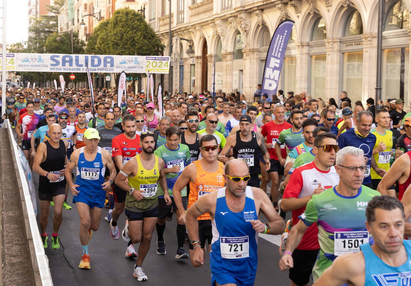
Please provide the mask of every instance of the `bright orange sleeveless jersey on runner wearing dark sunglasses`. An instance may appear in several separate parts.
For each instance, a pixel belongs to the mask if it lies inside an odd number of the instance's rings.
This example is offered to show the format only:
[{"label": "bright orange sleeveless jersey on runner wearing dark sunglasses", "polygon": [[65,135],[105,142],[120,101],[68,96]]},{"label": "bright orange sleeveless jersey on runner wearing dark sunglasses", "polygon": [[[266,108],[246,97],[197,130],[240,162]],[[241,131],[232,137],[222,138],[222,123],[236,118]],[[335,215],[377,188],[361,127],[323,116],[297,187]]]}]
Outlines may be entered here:
[{"label": "bright orange sleeveless jersey on runner wearing dark sunglasses", "polygon": [[[196,201],[203,194],[208,194],[215,190],[219,190],[224,187],[224,164],[220,161],[218,162],[217,171],[210,173],[203,169],[201,162],[194,161],[193,164],[196,166],[197,176],[194,183],[190,180],[190,193],[188,195],[188,208],[196,203]],[[197,220],[211,220],[210,213],[205,213],[197,217]]]}]

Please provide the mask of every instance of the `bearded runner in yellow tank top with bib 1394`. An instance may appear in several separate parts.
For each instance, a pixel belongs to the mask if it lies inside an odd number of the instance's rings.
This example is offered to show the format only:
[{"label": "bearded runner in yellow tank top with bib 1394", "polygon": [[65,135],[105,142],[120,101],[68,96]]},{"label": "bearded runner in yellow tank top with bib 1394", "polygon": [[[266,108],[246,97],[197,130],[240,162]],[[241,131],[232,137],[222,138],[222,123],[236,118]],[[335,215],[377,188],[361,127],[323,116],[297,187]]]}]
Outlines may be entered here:
[{"label": "bearded runner in yellow tank top with bib 1394", "polygon": [[[157,199],[157,183],[167,188],[164,173],[164,161],[154,155],[154,133],[145,131],[141,134],[142,152],[134,156],[118,173],[115,183],[126,192],[125,214],[128,217],[122,232],[123,239],[132,245],[140,243],[137,263],[133,275],[139,281],[148,280],[143,272],[144,258],[150,249],[152,232],[157,222],[159,204]],[[128,183],[125,180],[128,179]],[[167,203],[171,201],[166,196]],[[132,253],[134,247],[127,247]]]}]

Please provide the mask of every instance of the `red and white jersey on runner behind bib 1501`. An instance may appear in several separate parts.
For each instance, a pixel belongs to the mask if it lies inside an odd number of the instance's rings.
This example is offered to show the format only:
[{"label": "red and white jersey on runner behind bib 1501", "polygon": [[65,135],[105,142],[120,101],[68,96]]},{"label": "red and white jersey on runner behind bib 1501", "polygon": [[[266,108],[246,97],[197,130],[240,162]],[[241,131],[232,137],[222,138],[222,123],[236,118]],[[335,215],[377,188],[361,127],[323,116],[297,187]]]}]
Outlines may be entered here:
[{"label": "red and white jersey on runner behind bib 1501", "polygon": [[[328,171],[321,171],[316,167],[314,161],[302,165],[295,169],[291,175],[290,181],[284,190],[283,199],[311,196],[320,183],[324,190],[338,185],[339,176],[337,172],[335,172],[334,166]],[[327,206],[324,207],[326,208]],[[293,225],[296,225],[298,220],[300,220],[298,216],[301,215],[304,210],[305,206],[293,210]],[[308,227],[297,248],[300,250],[314,250],[320,248],[318,243],[317,224],[312,224]]]}]

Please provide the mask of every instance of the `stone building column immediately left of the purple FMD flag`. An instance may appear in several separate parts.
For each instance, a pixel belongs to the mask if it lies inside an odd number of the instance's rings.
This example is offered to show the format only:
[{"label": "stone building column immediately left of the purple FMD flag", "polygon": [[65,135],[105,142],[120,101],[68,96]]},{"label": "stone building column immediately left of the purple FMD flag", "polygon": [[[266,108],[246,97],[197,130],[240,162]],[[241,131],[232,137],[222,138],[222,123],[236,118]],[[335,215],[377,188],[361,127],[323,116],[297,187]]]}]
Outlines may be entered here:
[{"label": "stone building column immediately left of the purple FMD flag", "polygon": [[245,95],[247,102],[253,102],[254,92],[256,92],[259,83],[259,49],[244,49],[242,53],[242,93]]}]

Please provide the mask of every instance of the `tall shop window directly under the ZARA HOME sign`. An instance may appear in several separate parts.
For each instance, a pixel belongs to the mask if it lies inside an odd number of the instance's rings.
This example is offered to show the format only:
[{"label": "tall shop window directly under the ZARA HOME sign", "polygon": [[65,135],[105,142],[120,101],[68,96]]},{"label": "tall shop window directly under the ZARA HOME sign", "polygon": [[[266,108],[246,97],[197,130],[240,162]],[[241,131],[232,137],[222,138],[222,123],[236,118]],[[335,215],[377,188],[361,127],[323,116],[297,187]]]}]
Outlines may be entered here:
[{"label": "tall shop window directly under the ZARA HOME sign", "polygon": [[344,53],[342,89],[351,101],[362,99],[363,94],[363,52]]}]

